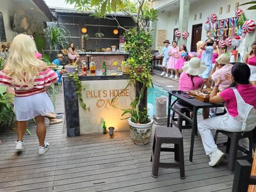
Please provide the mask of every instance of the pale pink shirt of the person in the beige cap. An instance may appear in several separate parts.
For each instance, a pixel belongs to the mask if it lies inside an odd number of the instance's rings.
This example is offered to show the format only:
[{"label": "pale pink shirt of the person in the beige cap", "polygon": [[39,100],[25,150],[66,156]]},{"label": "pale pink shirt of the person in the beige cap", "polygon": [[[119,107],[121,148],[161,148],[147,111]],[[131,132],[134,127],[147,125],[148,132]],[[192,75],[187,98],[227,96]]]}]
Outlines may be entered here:
[{"label": "pale pink shirt of the person in the beige cap", "polygon": [[225,65],[221,69],[216,70],[212,75],[211,78],[214,81],[217,81],[218,78],[221,78],[222,83],[220,84],[219,89],[226,89],[230,85],[231,81],[227,80],[224,75],[231,74],[232,65]]}]

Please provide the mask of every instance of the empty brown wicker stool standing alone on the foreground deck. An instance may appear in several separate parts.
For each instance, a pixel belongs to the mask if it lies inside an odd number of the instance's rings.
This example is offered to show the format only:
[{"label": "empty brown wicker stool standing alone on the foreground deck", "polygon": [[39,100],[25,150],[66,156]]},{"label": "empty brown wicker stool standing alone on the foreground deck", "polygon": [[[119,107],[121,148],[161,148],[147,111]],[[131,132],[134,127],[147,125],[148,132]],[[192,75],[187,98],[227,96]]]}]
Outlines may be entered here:
[{"label": "empty brown wicker stool standing alone on the foreground deck", "polygon": [[[174,143],[174,148],[161,147],[163,143]],[[160,152],[174,152],[175,161],[178,163],[160,163]],[[183,138],[177,127],[156,127],[151,161],[152,177],[158,177],[158,168],[180,168],[180,178],[185,179],[184,154],[183,154]]]}]

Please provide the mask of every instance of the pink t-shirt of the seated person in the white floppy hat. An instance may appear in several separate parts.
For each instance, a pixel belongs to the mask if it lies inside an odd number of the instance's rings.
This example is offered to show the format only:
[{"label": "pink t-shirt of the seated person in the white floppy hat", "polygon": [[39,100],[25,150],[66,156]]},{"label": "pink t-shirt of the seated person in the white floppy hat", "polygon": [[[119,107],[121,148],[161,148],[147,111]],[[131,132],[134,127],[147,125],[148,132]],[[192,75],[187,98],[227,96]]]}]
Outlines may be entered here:
[{"label": "pink t-shirt of the seated person in the white floppy hat", "polygon": [[199,76],[194,76],[193,82],[194,82],[194,86],[188,74],[185,72],[182,72],[180,75],[179,90],[188,91],[188,90],[198,89],[204,83],[204,79]]}]

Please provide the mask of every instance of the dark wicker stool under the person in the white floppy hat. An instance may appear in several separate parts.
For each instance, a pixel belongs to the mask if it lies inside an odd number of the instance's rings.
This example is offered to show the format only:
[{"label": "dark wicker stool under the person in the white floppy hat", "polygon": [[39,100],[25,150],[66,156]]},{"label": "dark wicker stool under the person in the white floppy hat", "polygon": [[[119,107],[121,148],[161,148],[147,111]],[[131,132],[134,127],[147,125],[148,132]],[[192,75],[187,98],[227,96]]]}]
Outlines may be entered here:
[{"label": "dark wicker stool under the person in the white floppy hat", "polygon": [[[174,109],[177,109],[181,113],[186,113],[187,117],[189,117],[190,115],[190,111],[188,110],[188,107],[183,106],[182,104],[175,103]],[[183,125],[183,120],[185,121],[185,125]],[[175,121],[177,121],[177,123]],[[181,115],[178,115],[178,118],[172,119],[170,126],[173,126],[173,124],[174,126],[179,128],[180,132],[182,132],[182,129],[192,129],[191,123],[185,120]]]}]

